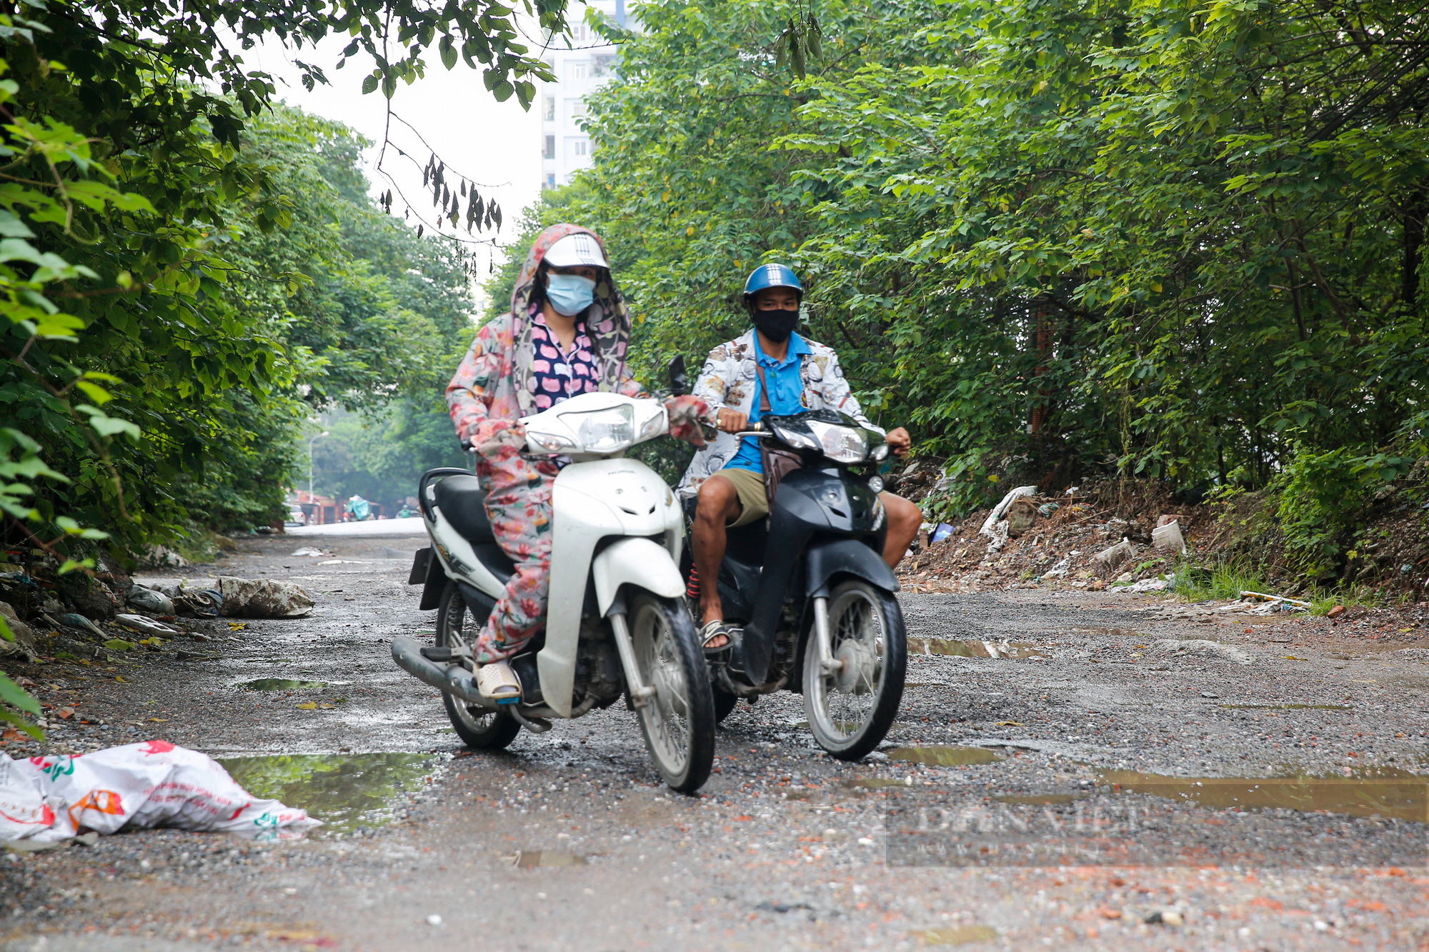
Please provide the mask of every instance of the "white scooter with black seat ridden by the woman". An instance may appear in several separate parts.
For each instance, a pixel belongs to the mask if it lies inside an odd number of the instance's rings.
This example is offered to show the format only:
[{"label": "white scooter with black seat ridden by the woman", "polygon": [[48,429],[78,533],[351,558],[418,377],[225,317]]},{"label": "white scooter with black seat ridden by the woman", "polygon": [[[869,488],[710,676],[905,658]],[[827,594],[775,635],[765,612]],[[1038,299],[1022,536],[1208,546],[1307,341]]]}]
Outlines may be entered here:
[{"label": "white scooter with black seat ridden by the woman", "polygon": [[502,749],[523,726],[540,733],[550,718],[579,718],[623,695],[664,782],[696,790],[713,763],[714,702],[682,598],[680,506],[653,469],[622,459],[669,430],[664,406],[583,393],[522,423],[527,453],[573,462],[552,496],[546,630],[510,659],[520,700],[483,698],[472,673],[472,643],[513,565],[492,535],[480,483],[466,470],[422,475],[417,499],[432,547],[417,552],[409,580],[426,586],[420,608],[437,609],[436,643],[396,638],[392,656],[442,689],[452,726],[470,748]]}]

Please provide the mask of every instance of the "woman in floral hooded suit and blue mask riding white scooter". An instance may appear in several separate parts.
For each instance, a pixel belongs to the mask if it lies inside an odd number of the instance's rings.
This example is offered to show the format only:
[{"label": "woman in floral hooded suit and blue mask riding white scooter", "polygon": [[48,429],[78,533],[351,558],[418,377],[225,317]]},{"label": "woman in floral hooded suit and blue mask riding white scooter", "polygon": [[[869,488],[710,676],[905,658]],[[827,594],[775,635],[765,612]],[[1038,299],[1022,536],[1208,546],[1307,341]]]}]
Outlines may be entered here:
[{"label": "woman in floral hooded suit and blue mask riding white scooter", "polygon": [[[506,663],[544,626],[550,577],[552,485],[569,460],[526,457],[520,417],[579,393],[649,396],[626,372],[630,314],[610,276],[604,243],[576,224],[542,232],[516,279],[512,310],[489,320],[447,385],[463,445],[479,455],[492,532],[516,570],[473,645],[483,696],[520,695]],[[666,403],[670,436],[703,446],[693,396]]]}]

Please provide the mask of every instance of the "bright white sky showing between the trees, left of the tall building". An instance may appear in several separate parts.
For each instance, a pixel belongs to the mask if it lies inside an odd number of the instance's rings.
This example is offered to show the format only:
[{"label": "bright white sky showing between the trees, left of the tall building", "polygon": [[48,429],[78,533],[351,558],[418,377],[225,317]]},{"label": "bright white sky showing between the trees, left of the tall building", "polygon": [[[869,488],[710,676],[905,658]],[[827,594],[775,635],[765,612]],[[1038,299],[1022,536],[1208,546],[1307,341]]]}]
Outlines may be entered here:
[{"label": "bright white sky showing between the trees, left of the tall building", "polygon": [[[530,20],[526,21],[524,33],[527,37],[539,36]],[[273,76],[279,99],[310,113],[344,123],[377,143],[364,154],[367,177],[372,179],[376,196],[392,187],[376,172],[386,120],[383,97],[380,91],[362,94],[362,80],[372,71],[372,60],[364,54],[354,56],[340,70],[334,69],[346,44],[347,37],[329,37],[316,50],[310,46],[290,50],[274,39],[243,51],[242,56],[247,69],[263,70]],[[537,43],[530,43],[530,46],[533,51],[539,49]],[[294,56],[320,66],[327,73],[329,84],[317,86],[312,93],[303,89],[299,79],[300,70],[292,63]],[[396,119],[392,122],[390,142],[416,159],[416,164],[413,164],[396,154],[390,146],[387,149],[383,169],[392,174],[397,184],[393,189],[392,212],[394,216],[400,216],[406,207],[402,196],[397,194],[400,190],[413,212],[420,212],[427,222],[427,230],[432,229],[437,209],[432,206],[432,193],[422,187],[422,167],[426,166],[427,157],[434,149],[439,159],[447,164],[446,177],[453,186],[453,192],[456,192],[456,179],[453,177],[453,172],[456,172],[466,176],[467,180],[476,182],[480,186],[477,193],[483,199],[496,197],[503,216],[503,226],[496,233],[496,239],[504,244],[516,236],[522,209],[534,202],[540,193],[539,107],[533,104],[529,111],[523,110],[514,96],[504,103],[497,103],[482,84],[480,70],[469,69],[462,60],[457,60],[456,67],[447,71],[442,66],[436,49],[423,59],[427,64],[426,77],[412,86],[399,86],[392,99],[396,116],[416,127],[413,132]],[[422,139],[427,144],[423,144]],[[410,219],[413,227],[416,227],[416,217]],[[449,226],[446,233],[450,232]],[[466,237],[466,230],[462,229],[460,234]],[[492,233],[473,232],[470,237],[489,239]],[[489,246],[473,246],[483,272],[489,256],[487,249]],[[502,253],[497,250],[496,254],[496,262],[500,263]],[[477,277],[480,280],[484,274]]]}]

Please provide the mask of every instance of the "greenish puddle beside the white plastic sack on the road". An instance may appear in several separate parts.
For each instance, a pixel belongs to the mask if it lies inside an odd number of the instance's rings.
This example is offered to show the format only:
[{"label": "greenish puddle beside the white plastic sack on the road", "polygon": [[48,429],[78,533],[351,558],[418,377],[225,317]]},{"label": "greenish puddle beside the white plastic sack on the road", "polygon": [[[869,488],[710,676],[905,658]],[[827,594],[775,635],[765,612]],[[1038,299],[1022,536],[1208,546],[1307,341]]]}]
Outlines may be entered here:
[{"label": "greenish puddle beside the white plastic sack on the road", "polygon": [[322,839],[392,820],[392,802],[423,786],[442,760],[430,753],[314,753],[219,760],[249,793],[302,806]]}]

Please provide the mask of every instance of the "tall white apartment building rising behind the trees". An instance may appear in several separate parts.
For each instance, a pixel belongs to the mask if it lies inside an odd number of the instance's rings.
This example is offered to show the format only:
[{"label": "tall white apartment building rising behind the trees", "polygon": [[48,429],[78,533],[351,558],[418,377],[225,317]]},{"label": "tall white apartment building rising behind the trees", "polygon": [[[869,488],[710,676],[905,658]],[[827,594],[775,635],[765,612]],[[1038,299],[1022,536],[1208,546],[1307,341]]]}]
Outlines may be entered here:
[{"label": "tall white apartment building rising behind the trees", "polygon": [[[586,0],[586,6],[626,24],[624,0]],[[574,19],[583,14],[579,6],[570,9]],[[556,74],[554,83],[542,83],[536,100],[542,110],[542,189],[554,189],[570,182],[570,176],[590,164],[590,136],[580,127],[586,117],[586,97],[614,76],[616,47],[603,43],[584,20],[570,33],[570,49],[564,37],[549,40],[543,57]]]}]

